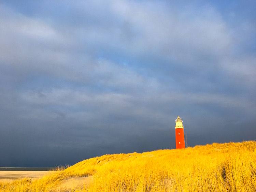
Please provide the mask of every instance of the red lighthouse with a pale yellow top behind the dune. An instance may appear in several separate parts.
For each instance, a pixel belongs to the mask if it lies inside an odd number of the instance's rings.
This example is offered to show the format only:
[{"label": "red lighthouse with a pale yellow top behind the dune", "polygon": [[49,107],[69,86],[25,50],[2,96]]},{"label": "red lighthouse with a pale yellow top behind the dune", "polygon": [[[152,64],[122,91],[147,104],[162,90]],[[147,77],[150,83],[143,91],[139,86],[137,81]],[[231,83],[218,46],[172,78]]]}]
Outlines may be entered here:
[{"label": "red lighthouse with a pale yellow top behind the dune", "polygon": [[185,139],[184,139],[184,127],[180,116],[175,120],[175,139],[176,139],[176,149],[185,149]]}]

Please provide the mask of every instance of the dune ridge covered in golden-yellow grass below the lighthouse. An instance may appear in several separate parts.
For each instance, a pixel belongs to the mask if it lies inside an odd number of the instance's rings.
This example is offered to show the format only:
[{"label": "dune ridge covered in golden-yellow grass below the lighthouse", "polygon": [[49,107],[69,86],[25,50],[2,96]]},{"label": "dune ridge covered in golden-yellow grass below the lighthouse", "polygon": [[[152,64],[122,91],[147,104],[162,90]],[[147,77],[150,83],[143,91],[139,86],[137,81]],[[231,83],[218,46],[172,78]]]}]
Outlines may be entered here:
[{"label": "dune ridge covered in golden-yellow grass below the lighthouse", "polygon": [[0,183],[0,191],[56,191],[69,177],[93,176],[70,191],[256,191],[256,142],[106,154],[35,180]]}]

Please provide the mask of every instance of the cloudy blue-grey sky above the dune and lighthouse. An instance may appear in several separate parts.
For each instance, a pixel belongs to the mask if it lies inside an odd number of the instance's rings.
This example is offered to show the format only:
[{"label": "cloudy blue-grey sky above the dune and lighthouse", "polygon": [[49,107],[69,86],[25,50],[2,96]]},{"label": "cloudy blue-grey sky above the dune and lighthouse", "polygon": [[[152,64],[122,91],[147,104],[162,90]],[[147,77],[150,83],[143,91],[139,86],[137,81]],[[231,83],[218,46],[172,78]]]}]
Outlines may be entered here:
[{"label": "cloudy blue-grey sky above the dune and lighthouse", "polygon": [[0,1],[0,166],[256,139],[256,2]]}]

